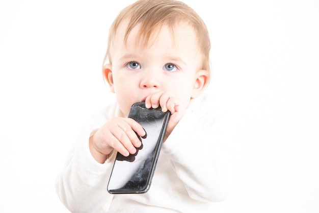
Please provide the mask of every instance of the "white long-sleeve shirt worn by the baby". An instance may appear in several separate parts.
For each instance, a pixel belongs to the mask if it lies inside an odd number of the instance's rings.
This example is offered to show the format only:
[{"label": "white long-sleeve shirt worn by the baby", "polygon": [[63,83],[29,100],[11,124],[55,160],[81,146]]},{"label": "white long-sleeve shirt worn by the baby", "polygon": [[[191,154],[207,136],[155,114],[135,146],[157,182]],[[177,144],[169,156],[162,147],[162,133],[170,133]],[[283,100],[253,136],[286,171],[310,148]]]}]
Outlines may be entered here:
[{"label": "white long-sleeve shirt worn by the baby", "polygon": [[116,103],[103,108],[76,139],[56,179],[61,201],[73,213],[218,212],[236,188],[238,165],[231,132],[219,125],[213,105],[206,95],[192,100],[162,146],[149,191],[120,195],[107,191],[114,157],[100,164],[89,150],[91,132],[121,115]]}]

